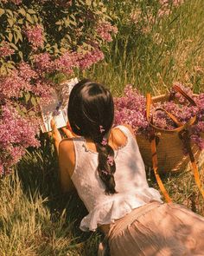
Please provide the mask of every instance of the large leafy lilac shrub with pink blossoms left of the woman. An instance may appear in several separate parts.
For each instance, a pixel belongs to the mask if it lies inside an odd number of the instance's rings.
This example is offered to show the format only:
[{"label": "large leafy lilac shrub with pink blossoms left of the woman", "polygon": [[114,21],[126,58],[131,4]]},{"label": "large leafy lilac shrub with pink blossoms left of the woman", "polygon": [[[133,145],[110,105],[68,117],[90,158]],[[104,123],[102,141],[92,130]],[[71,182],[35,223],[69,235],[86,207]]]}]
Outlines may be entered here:
[{"label": "large leafy lilac shrub with pink blossoms left of the woman", "polygon": [[39,104],[50,100],[54,77],[104,58],[117,32],[110,20],[101,1],[0,2],[0,174],[39,146]]}]

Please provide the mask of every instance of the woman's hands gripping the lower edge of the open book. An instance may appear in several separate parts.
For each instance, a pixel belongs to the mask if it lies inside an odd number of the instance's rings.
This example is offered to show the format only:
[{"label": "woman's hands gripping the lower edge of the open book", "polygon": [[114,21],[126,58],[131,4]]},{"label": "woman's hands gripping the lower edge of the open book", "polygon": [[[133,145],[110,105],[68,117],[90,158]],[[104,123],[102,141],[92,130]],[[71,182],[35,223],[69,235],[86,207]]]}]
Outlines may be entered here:
[{"label": "woman's hands gripping the lower edge of the open book", "polygon": [[[52,132],[49,133],[49,135],[54,139],[54,146],[57,150],[57,154],[59,154],[59,145],[60,145],[60,142],[63,140],[63,138],[61,137],[60,131],[56,127],[56,123],[55,123],[54,119],[52,119],[50,121],[50,126],[52,128]],[[67,128],[61,128],[61,129],[64,132],[64,134],[67,136],[67,138],[75,137],[73,132],[71,132],[69,129],[67,129]]]}]

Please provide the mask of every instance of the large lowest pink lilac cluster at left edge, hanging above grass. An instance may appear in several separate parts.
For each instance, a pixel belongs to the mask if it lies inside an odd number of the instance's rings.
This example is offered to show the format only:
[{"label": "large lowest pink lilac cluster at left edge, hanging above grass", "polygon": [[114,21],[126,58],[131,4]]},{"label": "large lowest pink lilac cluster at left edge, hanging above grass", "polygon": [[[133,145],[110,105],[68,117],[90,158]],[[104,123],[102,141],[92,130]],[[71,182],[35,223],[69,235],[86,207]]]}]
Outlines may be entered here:
[{"label": "large lowest pink lilac cluster at left edge, hanging above grass", "polygon": [[24,148],[38,147],[39,141],[35,138],[39,122],[35,118],[26,118],[19,115],[16,108],[6,103],[2,106],[0,118],[0,175],[10,171],[22,155]]}]

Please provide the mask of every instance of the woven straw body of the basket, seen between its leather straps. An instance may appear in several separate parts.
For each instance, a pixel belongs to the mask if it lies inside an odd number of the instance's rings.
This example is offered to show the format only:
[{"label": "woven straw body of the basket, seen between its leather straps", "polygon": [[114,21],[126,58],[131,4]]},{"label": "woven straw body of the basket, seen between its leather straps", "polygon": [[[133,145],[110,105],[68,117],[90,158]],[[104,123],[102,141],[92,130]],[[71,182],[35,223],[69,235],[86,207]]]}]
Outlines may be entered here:
[{"label": "woven straw body of the basket, seen between its leather straps", "polygon": [[[152,102],[168,101],[169,95],[159,95],[152,97]],[[176,131],[164,129],[155,129],[158,142],[156,145],[156,153],[158,160],[159,172],[178,172],[190,169],[189,156],[183,154],[183,144]],[[152,156],[150,150],[150,141],[144,135],[137,135],[137,143],[143,157],[146,167],[152,167]],[[200,150],[196,145],[192,144],[194,159],[198,167],[204,163],[204,150]]]}]

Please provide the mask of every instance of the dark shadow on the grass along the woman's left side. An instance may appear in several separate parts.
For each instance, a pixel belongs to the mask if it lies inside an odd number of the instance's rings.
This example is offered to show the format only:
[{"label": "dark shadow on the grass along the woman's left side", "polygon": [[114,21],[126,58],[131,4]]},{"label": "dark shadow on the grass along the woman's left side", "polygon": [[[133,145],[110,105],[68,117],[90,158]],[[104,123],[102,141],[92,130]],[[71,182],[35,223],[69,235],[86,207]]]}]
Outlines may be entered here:
[{"label": "dark shadow on the grass along the woman's left side", "polygon": [[[80,250],[80,255],[97,255],[101,233],[84,233],[80,231],[80,220],[87,214],[86,207],[78,194],[62,194],[58,178],[58,160],[54,146],[49,138],[41,136],[41,148],[30,148],[28,153],[16,167],[16,173],[22,183],[23,193],[28,198],[40,194],[45,199],[45,206],[50,213],[50,221],[61,221],[65,215],[66,221],[61,226],[73,238],[69,246],[73,251]],[[62,230],[63,232],[63,230]],[[78,250],[78,251],[79,251]],[[58,254],[54,254],[58,255]],[[60,254],[59,254],[60,255]],[[74,255],[68,254],[67,255]],[[77,254],[78,255],[78,254]]]}]

